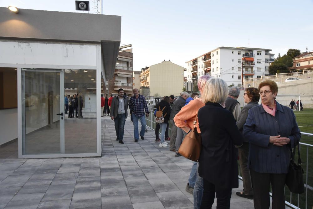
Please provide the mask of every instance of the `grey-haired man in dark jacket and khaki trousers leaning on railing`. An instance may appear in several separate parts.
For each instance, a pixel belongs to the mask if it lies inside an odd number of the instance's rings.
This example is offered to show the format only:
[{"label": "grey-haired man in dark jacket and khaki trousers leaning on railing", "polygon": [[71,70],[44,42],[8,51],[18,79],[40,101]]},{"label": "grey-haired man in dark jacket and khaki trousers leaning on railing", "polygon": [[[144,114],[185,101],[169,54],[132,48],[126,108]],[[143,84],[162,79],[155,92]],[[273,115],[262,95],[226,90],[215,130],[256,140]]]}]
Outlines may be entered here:
[{"label": "grey-haired man in dark jacket and khaki trousers leaning on railing", "polygon": [[[180,94],[180,97],[178,97],[172,105],[172,111],[170,115],[170,123],[172,123],[172,129],[171,129],[171,140],[170,140],[170,151],[175,152],[176,151],[176,137],[177,137],[177,126],[174,123],[174,117],[175,115],[182,109],[182,107],[185,106],[186,99],[189,97],[188,92],[184,91]],[[180,154],[177,152],[177,157],[180,156]]]}]

